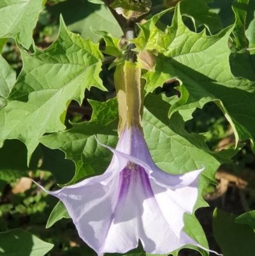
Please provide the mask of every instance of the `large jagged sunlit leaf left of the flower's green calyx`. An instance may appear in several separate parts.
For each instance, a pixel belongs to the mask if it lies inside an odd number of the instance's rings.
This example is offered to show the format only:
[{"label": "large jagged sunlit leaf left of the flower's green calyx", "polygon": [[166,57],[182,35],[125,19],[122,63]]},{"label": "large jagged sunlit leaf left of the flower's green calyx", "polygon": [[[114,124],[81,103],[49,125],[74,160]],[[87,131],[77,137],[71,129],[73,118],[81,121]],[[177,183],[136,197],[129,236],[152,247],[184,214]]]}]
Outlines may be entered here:
[{"label": "large jagged sunlit leaf left of the flower's green calyx", "polygon": [[105,90],[99,78],[103,55],[98,45],[69,32],[62,20],[59,36],[48,49],[21,53],[24,67],[8,104],[0,110],[0,143],[22,140],[30,158],[39,137],[64,130],[66,107],[72,99],[81,104],[85,89],[91,86]]}]

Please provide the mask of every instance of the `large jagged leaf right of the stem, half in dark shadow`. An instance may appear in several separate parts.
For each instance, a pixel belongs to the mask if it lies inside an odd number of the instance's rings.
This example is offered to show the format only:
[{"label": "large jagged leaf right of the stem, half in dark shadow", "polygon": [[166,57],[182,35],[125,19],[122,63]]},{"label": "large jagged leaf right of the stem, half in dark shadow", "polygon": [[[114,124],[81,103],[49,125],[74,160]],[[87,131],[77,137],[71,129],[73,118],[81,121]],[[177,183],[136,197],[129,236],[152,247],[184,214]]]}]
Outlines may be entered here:
[{"label": "large jagged leaf right of the stem, half in dark shadow", "polygon": [[182,22],[177,7],[172,26],[161,38],[159,46],[164,50],[156,60],[155,72],[144,75],[145,90],[152,92],[170,79],[179,80],[177,89],[186,93],[171,106],[170,116],[214,101],[230,121],[236,141],[251,139],[255,151],[255,84],[231,73],[228,38],[232,30],[228,27],[215,36],[207,36],[205,31],[193,33]]}]

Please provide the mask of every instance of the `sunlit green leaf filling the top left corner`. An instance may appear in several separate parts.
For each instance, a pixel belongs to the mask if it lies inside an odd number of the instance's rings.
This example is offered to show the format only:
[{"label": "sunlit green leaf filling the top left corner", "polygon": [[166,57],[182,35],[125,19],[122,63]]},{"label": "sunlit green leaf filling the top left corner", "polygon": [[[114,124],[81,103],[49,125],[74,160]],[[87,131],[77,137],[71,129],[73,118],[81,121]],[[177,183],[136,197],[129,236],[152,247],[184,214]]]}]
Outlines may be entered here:
[{"label": "sunlit green leaf filling the top left corner", "polygon": [[33,29],[45,0],[1,0],[0,37],[15,38],[29,49],[33,41]]}]

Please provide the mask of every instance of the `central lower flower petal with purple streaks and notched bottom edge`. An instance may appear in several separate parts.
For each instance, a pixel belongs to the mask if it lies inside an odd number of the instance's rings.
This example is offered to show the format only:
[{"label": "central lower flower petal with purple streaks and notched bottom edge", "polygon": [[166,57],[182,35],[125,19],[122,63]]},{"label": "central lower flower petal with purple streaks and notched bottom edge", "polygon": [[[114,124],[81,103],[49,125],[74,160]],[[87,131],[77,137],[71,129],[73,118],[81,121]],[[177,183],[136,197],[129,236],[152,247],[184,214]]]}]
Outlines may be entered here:
[{"label": "central lower flower petal with purple streaks and notched bottom edge", "polygon": [[182,244],[161,213],[142,167],[125,169],[113,222],[102,252],[124,253],[138,246],[141,239],[148,253],[168,253]]}]

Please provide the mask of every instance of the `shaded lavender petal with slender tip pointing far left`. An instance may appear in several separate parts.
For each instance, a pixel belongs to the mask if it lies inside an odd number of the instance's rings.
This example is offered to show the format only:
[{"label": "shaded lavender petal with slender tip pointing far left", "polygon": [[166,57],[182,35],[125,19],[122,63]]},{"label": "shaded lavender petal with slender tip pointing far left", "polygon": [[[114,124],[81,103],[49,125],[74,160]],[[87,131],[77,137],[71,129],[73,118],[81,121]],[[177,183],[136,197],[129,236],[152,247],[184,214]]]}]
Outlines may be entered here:
[{"label": "shaded lavender petal with slender tip pointing far left", "polygon": [[55,192],[49,192],[39,184],[38,186],[64,203],[79,236],[100,253],[112,224],[117,204],[116,195],[119,193],[119,179],[120,175],[113,177],[108,186],[97,183],[82,188],[65,187],[65,190],[62,188]]}]

